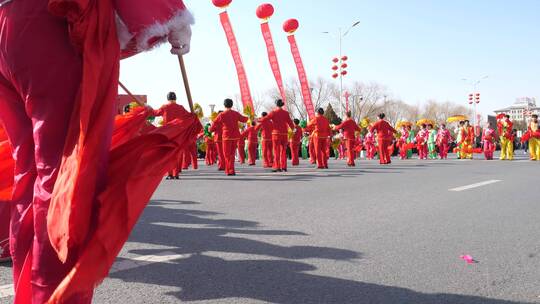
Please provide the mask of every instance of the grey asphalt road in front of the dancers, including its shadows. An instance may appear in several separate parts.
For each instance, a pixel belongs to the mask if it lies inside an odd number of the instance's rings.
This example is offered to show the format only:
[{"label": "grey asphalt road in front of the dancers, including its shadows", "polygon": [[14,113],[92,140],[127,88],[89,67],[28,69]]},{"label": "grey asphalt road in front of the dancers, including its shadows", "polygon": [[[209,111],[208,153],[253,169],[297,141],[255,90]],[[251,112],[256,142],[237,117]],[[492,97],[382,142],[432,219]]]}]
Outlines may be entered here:
[{"label": "grey asphalt road in front of the dancers, including its shadows", "polygon": [[540,303],[540,162],[330,166],[164,181],[94,303]]}]

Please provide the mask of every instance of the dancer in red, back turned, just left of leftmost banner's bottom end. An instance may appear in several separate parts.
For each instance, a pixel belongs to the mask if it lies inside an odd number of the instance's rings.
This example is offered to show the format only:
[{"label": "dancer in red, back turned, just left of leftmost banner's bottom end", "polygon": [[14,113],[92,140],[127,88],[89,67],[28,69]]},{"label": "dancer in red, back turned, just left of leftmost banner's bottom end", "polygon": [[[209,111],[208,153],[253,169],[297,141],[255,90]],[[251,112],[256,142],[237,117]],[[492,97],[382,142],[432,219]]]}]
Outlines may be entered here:
[{"label": "dancer in red, back turned, just left of leftmost banner's bottom end", "polygon": [[234,158],[240,139],[239,123],[246,123],[249,118],[232,109],[233,101],[225,99],[223,103],[225,112],[218,115],[216,123],[223,125],[223,154],[225,156],[225,173],[228,176],[236,175],[234,170]]}]

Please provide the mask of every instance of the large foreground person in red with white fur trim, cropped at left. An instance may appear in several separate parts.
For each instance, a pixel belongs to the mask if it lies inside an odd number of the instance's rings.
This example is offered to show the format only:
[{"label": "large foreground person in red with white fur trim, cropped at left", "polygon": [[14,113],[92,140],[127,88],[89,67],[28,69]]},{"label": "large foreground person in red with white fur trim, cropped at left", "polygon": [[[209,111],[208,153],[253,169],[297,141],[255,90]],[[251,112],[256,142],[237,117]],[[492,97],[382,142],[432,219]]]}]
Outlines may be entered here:
[{"label": "large foreground person in red with white fur trim, cropped at left", "polygon": [[[90,303],[98,278],[86,273],[79,282],[77,269],[87,265],[79,259],[90,252],[85,240],[97,235],[90,219],[116,160],[109,148],[121,54],[167,40],[185,54],[193,20],[181,0],[0,4],[0,121],[16,159],[14,301]],[[75,211],[69,218],[55,216],[68,209]],[[94,269],[108,269],[108,260],[100,263]]]}]

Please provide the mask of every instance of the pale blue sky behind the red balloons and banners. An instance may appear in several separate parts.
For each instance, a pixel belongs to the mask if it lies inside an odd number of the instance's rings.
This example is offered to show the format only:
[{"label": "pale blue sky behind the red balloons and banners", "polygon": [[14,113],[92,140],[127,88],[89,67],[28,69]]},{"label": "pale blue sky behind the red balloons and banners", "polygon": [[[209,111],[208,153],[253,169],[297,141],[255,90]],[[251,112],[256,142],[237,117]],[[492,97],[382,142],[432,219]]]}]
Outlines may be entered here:
[{"label": "pale blue sky behind the red balloons and banners", "polygon": [[[275,86],[255,9],[264,1],[234,0],[228,11],[253,95]],[[221,105],[238,94],[238,82],[218,13],[210,0],[185,1],[194,13],[192,52],[186,56],[194,99]],[[297,18],[296,36],[308,77],[331,79],[337,38],[321,34],[361,21],[344,40],[350,57],[346,82],[377,82],[392,95],[417,104],[428,99],[466,103],[471,87],[462,78],[481,78],[484,114],[515,98],[540,99],[540,0],[275,0],[270,20],[284,78],[296,69],[281,29]],[[166,93],[183,95],[177,59],[168,46],[122,62],[121,81],[150,104]],[[205,107],[205,111],[208,108]]]}]

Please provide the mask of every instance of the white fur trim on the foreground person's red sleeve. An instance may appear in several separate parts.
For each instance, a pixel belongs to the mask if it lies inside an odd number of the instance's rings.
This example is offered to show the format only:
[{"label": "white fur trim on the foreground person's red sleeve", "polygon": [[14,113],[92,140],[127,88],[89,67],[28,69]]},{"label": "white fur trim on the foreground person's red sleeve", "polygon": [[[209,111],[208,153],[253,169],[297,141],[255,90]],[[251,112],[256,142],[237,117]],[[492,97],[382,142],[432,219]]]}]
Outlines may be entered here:
[{"label": "white fur trim on the foreground person's red sleeve", "polygon": [[[167,35],[171,31],[181,32],[189,26],[195,24],[193,15],[186,9],[176,12],[169,21],[166,23],[154,23],[148,28],[144,29],[137,37],[137,51],[146,51],[152,47],[155,47],[165,41],[167,41]],[[148,41],[154,37],[163,37],[158,43],[151,46]]]}]

